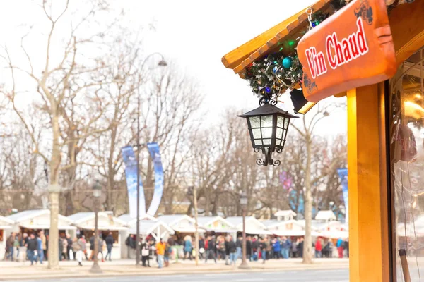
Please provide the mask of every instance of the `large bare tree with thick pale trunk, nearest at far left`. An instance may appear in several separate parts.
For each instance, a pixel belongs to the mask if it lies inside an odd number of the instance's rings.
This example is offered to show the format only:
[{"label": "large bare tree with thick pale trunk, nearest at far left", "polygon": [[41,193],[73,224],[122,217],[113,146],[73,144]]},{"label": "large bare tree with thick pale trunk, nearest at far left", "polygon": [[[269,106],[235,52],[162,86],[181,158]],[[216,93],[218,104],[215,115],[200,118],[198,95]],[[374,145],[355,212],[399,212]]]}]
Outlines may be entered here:
[{"label": "large bare tree with thick pale trunk, nearest at far left", "polygon": [[[57,258],[58,229],[57,220],[59,214],[59,192],[61,171],[76,166],[75,152],[78,150],[78,142],[90,135],[96,134],[104,128],[99,126],[100,114],[93,109],[102,108],[102,85],[105,82],[99,76],[99,72],[105,67],[101,60],[101,47],[105,41],[105,33],[96,32],[93,21],[94,16],[101,11],[105,11],[107,6],[103,1],[93,1],[88,13],[78,16],[70,11],[70,1],[41,1],[40,8],[49,23],[45,44],[45,54],[43,66],[37,68],[31,52],[28,51],[28,44],[25,44],[24,35],[21,40],[21,51],[27,59],[27,66],[18,66],[13,63],[11,53],[6,47],[4,59],[11,70],[11,86],[5,87],[3,93],[8,97],[13,111],[25,126],[28,134],[35,146],[35,153],[49,165],[49,200],[50,200],[50,232],[49,232],[49,267],[56,269],[59,266]],[[78,7],[73,7],[78,8]],[[71,16],[71,20],[66,19]],[[80,14],[81,15],[81,14]],[[62,20],[64,19],[64,20]],[[61,22],[69,23],[69,30],[61,30],[61,35],[65,37],[64,44],[53,44],[57,38],[57,26]],[[90,29],[86,27],[90,26]],[[107,29],[107,27],[106,27]],[[84,32],[79,32],[85,30]],[[94,30],[91,35],[86,34],[86,30]],[[83,56],[83,51],[87,51],[86,44],[95,43],[98,54],[89,58]],[[97,48],[96,48],[97,47]],[[57,58],[57,54],[61,54]],[[16,72],[19,71],[27,75],[35,83],[33,93],[38,94],[40,109],[49,118],[50,137],[48,146],[38,142],[35,131],[30,127],[28,115],[20,109],[16,103],[18,97],[18,78]],[[74,111],[73,106],[78,105],[81,111]],[[78,120],[76,120],[78,113]],[[62,123],[61,121],[73,121],[72,123]],[[76,126],[76,128],[73,128]],[[77,133],[77,135],[75,135]],[[67,154],[68,158],[63,158]]]}]

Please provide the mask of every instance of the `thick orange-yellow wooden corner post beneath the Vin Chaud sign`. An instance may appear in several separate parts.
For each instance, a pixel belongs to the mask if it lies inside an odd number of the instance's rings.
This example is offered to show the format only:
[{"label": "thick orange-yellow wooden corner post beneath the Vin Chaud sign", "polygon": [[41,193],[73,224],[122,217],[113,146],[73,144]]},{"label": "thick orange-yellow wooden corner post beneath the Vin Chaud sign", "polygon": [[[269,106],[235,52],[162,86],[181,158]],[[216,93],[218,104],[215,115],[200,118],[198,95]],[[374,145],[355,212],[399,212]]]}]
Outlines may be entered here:
[{"label": "thick orange-yellow wooden corner post beneath the Vin Chaud sign", "polygon": [[389,281],[384,84],[348,91],[350,281]]}]

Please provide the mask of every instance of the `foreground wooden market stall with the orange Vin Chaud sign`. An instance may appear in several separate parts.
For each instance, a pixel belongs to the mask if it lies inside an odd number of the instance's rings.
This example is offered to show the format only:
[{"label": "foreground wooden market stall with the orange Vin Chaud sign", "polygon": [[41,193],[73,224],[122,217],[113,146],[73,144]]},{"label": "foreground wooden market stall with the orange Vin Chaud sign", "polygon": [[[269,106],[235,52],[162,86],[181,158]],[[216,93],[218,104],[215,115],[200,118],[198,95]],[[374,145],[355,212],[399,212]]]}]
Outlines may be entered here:
[{"label": "foreground wooden market stall with the orange Vin Chaud sign", "polygon": [[[347,97],[350,281],[420,275],[398,223],[407,233],[423,210],[423,11],[424,0],[319,0],[222,59],[268,109],[286,90],[300,114]],[[278,165],[259,149],[259,164]]]}]

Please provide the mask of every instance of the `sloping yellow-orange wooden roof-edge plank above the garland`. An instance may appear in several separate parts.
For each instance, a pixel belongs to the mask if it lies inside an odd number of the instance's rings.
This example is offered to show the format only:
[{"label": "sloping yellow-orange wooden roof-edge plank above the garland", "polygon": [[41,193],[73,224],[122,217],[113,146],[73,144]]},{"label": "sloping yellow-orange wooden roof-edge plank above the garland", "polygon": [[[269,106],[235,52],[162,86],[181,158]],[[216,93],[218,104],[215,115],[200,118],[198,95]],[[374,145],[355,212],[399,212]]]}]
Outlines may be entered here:
[{"label": "sloping yellow-orange wooden roof-edge plank above the garland", "polygon": [[[317,1],[317,3],[319,2],[325,3],[326,0]],[[237,66],[239,66],[242,61],[245,61],[245,59],[247,59],[247,57],[250,56],[254,51],[257,51],[257,49],[266,44],[269,39],[275,37],[278,32],[285,29],[285,27],[287,27],[289,23],[298,20],[298,17],[302,13],[305,13],[305,10],[296,13],[287,20],[278,23],[278,25],[271,27],[269,30],[266,30],[266,32],[262,33],[261,35],[254,37],[245,44],[242,44],[240,47],[237,47],[236,49],[230,51],[228,54],[225,54],[225,56],[223,56],[223,58],[221,59],[224,66],[226,68],[236,68]]]}]

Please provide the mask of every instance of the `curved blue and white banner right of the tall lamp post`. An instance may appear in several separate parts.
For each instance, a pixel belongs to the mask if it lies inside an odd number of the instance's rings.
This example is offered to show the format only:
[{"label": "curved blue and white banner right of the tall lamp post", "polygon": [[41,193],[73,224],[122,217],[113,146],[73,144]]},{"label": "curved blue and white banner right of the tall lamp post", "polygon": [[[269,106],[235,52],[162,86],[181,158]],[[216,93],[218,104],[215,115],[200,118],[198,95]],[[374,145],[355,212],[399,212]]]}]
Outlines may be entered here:
[{"label": "curved blue and white banner right of the tall lamp post", "polygon": [[160,152],[158,143],[148,143],[148,152],[151,154],[153,159],[153,167],[155,168],[155,191],[153,192],[153,198],[147,213],[152,216],[158,211],[160,201],[163,195],[163,166],[160,160]]}]

